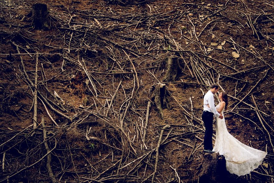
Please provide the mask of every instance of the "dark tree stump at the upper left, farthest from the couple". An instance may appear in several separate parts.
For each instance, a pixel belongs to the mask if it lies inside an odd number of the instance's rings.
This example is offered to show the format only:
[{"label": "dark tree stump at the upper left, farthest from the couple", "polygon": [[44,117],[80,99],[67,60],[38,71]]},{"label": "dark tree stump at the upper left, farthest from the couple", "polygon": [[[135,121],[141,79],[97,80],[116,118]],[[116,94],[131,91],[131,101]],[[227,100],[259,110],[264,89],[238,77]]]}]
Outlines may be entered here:
[{"label": "dark tree stump at the upper left, farthest from the couple", "polygon": [[32,5],[32,11],[27,16],[30,16],[27,21],[31,21],[31,24],[36,29],[48,30],[52,28],[52,18],[45,4],[35,3]]}]

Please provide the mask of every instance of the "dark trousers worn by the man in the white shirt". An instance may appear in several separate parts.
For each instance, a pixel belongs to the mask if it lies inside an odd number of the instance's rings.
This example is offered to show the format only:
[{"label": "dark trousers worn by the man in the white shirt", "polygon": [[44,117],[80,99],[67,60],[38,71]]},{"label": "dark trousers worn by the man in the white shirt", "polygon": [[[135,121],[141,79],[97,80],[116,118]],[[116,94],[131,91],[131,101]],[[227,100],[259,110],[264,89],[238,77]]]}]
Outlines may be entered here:
[{"label": "dark trousers worn by the man in the white shirt", "polygon": [[213,113],[204,111],[202,120],[205,124],[204,149],[212,150],[212,135],[213,135]]}]

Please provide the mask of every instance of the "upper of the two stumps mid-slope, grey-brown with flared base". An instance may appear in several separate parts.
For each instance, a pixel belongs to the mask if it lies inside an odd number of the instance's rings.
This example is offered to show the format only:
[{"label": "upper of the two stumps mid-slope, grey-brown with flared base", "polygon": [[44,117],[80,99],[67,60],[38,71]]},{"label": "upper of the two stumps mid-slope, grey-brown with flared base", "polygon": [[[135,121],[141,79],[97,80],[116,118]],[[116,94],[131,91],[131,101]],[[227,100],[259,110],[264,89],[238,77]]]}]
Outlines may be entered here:
[{"label": "upper of the two stumps mid-slope, grey-brown with flared base", "polygon": [[178,57],[169,57],[167,61],[167,71],[165,73],[164,78],[162,79],[163,82],[173,82],[180,72],[181,66],[179,64]]}]

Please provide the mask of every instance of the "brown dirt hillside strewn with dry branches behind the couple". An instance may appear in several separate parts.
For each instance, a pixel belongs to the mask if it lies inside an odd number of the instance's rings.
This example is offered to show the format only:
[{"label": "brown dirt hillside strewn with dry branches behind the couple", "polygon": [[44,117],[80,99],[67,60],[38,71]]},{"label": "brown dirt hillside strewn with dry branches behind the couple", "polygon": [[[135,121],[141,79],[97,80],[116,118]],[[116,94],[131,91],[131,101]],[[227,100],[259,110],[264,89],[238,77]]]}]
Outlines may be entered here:
[{"label": "brown dirt hillside strewn with dry branches behind the couple", "polygon": [[[51,29],[32,24],[27,14],[34,3],[47,5]],[[258,173],[227,172],[223,182],[273,182],[273,1],[7,0],[0,6],[0,182],[51,181],[41,117],[57,182],[148,182],[156,159],[154,181],[198,182],[203,95],[213,83],[230,95],[224,114],[230,134],[268,152]],[[71,120],[37,99],[33,130],[34,87],[22,62],[34,82],[36,52],[37,90]],[[178,56],[183,70],[166,83],[162,119],[152,94],[169,56]],[[167,143],[156,157],[152,149],[166,124]]]}]

